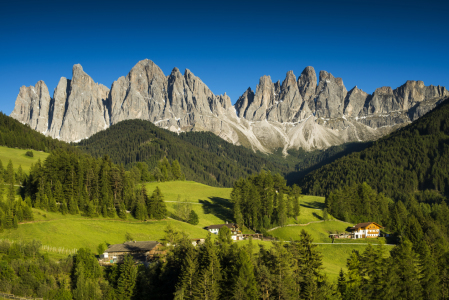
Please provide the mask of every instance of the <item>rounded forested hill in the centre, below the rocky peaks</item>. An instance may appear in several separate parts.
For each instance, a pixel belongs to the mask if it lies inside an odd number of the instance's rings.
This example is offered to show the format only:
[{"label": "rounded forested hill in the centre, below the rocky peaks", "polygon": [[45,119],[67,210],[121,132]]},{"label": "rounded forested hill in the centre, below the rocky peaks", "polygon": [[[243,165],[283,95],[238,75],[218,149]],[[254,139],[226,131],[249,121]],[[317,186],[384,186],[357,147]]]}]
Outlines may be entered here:
[{"label": "rounded forested hill in the centre, below the rocky peaks", "polygon": [[212,133],[178,135],[142,120],[120,122],[78,145],[94,157],[107,154],[114,163],[123,163],[126,168],[146,162],[152,170],[164,157],[177,160],[187,180],[213,186],[231,187],[239,177],[262,169],[284,175],[291,170],[287,164],[270,162],[252,150],[230,144]]}]

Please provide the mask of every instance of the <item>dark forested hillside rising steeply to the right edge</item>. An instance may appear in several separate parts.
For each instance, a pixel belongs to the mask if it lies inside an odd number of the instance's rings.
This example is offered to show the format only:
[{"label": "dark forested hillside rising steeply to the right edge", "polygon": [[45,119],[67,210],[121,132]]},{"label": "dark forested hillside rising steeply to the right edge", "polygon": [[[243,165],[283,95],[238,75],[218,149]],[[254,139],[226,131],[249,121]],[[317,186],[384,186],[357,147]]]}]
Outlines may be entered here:
[{"label": "dark forested hillside rising steeply to the right edge", "polygon": [[434,189],[449,195],[449,100],[416,122],[312,172],[300,180],[306,194],[328,195],[367,182],[378,192],[402,197]]}]

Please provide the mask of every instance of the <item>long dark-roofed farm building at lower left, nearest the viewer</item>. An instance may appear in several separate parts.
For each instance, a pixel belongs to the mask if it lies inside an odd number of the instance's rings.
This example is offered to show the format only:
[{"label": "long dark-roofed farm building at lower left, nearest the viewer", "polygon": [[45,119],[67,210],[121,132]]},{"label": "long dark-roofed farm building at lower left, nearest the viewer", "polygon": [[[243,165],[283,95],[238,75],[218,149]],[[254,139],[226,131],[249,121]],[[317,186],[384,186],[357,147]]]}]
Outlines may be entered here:
[{"label": "long dark-roofed farm building at lower left, nearest the viewer", "polygon": [[103,263],[122,263],[125,255],[131,255],[135,262],[147,263],[161,257],[164,253],[162,244],[157,241],[131,241],[110,245],[101,255],[100,261]]}]

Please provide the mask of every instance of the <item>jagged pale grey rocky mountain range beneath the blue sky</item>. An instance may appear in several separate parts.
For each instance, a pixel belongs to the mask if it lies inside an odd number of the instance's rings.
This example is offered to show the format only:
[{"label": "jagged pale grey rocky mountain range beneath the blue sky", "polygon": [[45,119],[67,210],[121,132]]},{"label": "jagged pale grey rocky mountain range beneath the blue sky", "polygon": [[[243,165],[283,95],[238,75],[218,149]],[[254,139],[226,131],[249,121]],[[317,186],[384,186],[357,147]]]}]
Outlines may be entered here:
[{"label": "jagged pale grey rocky mountain range beneath the blue sky", "polygon": [[374,140],[412,122],[449,96],[446,88],[407,81],[367,94],[326,71],[307,67],[282,83],[262,76],[235,105],[214,95],[190,70],[165,76],[150,60],[138,62],[108,89],[73,66],[50,96],[43,81],[20,88],[11,117],[67,142],[76,142],[127,119],[143,119],[175,132],[211,131],[261,152],[324,149]]}]

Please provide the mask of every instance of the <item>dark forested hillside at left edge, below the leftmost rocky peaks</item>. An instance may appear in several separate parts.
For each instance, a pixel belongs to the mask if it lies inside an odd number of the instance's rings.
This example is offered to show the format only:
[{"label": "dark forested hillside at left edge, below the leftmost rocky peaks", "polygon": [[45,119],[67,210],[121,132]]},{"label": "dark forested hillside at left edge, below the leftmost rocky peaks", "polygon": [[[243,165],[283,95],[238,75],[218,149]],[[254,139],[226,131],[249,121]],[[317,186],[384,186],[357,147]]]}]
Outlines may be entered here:
[{"label": "dark forested hillside at left edge, below the leftmost rocky peaks", "polygon": [[29,125],[23,125],[2,112],[0,112],[0,146],[45,152],[71,147],[65,142],[46,137],[31,129]]}]

